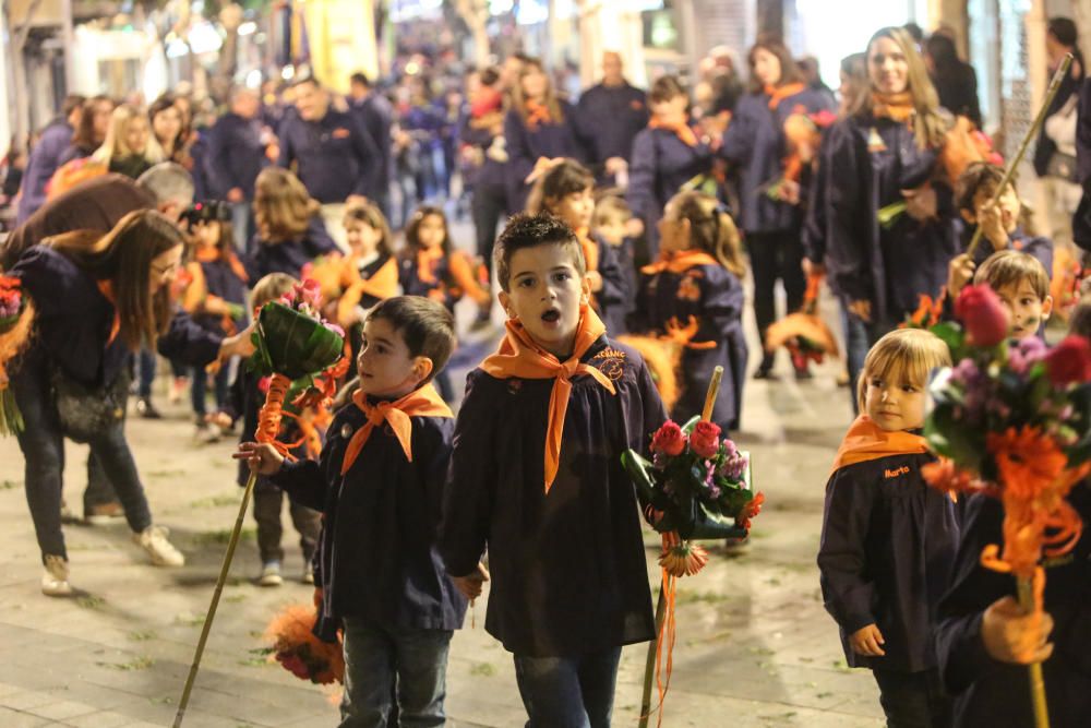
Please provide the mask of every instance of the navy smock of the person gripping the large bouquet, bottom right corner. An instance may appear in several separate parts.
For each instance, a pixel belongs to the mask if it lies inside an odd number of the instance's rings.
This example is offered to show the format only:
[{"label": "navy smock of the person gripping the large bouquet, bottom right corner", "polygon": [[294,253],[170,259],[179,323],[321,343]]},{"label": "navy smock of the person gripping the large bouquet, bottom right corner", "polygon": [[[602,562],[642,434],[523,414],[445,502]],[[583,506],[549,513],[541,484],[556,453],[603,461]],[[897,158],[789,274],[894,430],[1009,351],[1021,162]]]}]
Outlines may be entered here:
[{"label": "navy smock of the person gripping the large bouquet, bottom right corner", "polygon": [[[1069,502],[1091,523],[1091,485],[1076,486]],[[1032,726],[1027,668],[993,659],[981,641],[985,609],[1016,596],[1016,580],[981,565],[981,551],[1003,544],[1004,509],[996,499],[973,496],[967,505],[950,590],[939,602],[936,652],[944,687],[955,699],[955,726]],[[1050,724],[1083,728],[1091,717],[1091,535],[1047,563],[1045,611],[1053,617],[1053,655],[1042,664]]]}]

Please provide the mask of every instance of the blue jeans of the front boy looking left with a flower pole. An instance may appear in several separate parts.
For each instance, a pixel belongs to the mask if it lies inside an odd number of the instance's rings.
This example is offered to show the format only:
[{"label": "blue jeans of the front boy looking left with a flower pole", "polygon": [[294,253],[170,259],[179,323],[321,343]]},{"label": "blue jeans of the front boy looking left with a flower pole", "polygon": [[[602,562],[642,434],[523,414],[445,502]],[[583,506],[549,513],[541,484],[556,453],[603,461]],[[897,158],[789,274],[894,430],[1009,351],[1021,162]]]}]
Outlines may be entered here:
[{"label": "blue jeans of the front boy looking left with a flower pole", "polygon": [[[387,630],[345,618],[340,728],[427,728],[446,721],[451,630]],[[392,719],[397,696],[397,717]]]}]

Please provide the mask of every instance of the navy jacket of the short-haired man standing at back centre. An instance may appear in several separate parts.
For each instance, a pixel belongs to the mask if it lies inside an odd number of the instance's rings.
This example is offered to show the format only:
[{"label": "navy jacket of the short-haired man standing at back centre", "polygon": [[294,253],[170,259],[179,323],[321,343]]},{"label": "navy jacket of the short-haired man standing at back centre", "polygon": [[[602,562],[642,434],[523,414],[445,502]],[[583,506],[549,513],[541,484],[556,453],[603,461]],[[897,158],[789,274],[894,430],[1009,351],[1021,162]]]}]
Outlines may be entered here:
[{"label": "navy jacket of the short-haired man standing at back centre", "polygon": [[621,86],[591,86],[580,95],[577,112],[587,130],[588,160],[597,165],[610,157],[628,162],[633,140],[648,126],[646,94],[627,82]]}]

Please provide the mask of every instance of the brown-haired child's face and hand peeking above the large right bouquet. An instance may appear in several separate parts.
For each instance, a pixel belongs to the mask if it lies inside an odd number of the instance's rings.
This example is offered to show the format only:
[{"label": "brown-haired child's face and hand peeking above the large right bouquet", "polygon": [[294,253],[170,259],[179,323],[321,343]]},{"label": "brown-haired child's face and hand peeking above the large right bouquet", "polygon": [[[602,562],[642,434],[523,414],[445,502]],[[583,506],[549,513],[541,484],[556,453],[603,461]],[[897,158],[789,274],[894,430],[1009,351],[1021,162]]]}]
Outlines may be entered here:
[{"label": "brown-haired child's face and hand peeking above the large right bouquet", "polygon": [[[1053,312],[1053,297],[1050,295],[1050,276],[1041,261],[1028,253],[1002,250],[990,255],[974,271],[966,255],[959,258],[962,260],[951,261],[945,303],[958,298],[972,273],[974,284],[987,284],[1008,310],[1011,338],[1042,335],[1044,324]],[[950,306],[947,309],[949,312]]]}]

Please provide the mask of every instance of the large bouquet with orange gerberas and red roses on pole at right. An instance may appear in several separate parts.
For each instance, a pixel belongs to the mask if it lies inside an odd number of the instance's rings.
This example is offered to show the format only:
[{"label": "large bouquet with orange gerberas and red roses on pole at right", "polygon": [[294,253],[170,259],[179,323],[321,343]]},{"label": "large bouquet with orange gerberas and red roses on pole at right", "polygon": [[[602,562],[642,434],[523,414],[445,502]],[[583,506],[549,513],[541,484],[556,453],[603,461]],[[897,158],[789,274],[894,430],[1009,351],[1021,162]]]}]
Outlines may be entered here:
[{"label": "large bouquet with orange gerberas and red roses on pole at right", "polygon": [[[1043,559],[1070,551],[1083,523],[1068,503],[1091,472],[1091,345],[1069,336],[1050,349],[1036,337],[1009,342],[1007,312],[987,286],[956,302],[962,325],[932,331],[958,363],[932,386],[924,435],[939,462],[924,470],[948,492],[983,491],[1004,504],[1004,544],[981,554],[1012,574],[1020,605],[1042,612]],[[1048,726],[1040,664],[1030,666],[1035,723]]]}]

